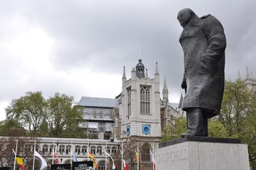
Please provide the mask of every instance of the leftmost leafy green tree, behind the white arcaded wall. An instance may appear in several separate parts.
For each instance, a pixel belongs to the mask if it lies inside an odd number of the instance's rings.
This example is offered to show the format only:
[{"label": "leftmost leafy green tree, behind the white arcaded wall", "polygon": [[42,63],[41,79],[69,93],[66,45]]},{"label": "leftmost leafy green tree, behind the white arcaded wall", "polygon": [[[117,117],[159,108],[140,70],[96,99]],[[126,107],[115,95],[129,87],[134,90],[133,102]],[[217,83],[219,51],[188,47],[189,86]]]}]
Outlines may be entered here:
[{"label": "leftmost leafy green tree, behind the white arcaded wall", "polygon": [[7,120],[17,121],[23,128],[28,130],[29,134],[36,135],[40,132],[40,125],[45,116],[47,103],[42,92],[27,92],[24,97],[12,100],[6,108]]}]

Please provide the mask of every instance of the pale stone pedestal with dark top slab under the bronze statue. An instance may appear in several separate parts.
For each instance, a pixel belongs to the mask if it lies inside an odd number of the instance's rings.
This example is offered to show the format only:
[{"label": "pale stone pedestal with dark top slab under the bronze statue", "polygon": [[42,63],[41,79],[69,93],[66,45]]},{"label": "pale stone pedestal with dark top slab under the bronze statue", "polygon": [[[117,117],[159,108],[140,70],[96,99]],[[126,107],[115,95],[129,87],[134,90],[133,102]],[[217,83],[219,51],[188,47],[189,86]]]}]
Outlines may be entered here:
[{"label": "pale stone pedestal with dark top slab under the bronze statue", "polygon": [[156,169],[249,170],[247,144],[238,139],[184,137],[159,144]]}]

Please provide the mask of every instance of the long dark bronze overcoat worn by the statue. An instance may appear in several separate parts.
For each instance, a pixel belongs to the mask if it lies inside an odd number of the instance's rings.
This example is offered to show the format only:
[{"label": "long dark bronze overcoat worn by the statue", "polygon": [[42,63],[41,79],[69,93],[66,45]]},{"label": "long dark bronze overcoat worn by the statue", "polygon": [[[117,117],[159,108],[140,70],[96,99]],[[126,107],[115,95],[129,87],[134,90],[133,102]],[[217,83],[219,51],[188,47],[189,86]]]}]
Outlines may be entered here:
[{"label": "long dark bronze overcoat worn by the statue", "polygon": [[196,15],[180,38],[184,51],[184,79],[188,86],[182,109],[201,107],[208,117],[220,113],[224,91],[226,38],[221,23],[212,15]]}]

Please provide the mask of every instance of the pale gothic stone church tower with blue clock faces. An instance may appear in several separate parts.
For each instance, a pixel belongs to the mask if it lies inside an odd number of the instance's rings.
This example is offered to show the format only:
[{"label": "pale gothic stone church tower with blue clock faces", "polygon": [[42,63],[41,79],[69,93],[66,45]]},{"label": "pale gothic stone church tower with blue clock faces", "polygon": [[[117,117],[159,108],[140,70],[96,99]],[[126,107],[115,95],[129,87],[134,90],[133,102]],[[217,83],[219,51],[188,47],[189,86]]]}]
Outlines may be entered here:
[{"label": "pale gothic stone church tower with blue clock faces", "polygon": [[132,68],[131,79],[122,78],[122,95],[119,105],[122,141],[138,141],[143,169],[151,167],[149,150],[156,148],[161,138],[159,73],[156,63],[154,79],[148,78],[145,66],[139,60]]}]

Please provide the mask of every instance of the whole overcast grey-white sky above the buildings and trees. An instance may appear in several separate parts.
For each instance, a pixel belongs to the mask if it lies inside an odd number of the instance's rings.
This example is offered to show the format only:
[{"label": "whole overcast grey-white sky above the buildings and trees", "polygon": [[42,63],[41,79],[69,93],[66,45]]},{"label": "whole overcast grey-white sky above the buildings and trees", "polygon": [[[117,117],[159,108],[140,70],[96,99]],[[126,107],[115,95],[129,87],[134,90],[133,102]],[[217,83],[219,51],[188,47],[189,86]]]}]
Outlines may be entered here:
[{"label": "whole overcast grey-white sky above the buildings and trees", "polygon": [[179,102],[184,70],[177,13],[211,13],[227,36],[225,78],[256,77],[255,0],[0,0],[0,120],[12,99],[28,91],[115,98],[141,59],[154,78],[156,62],[170,102]]}]

